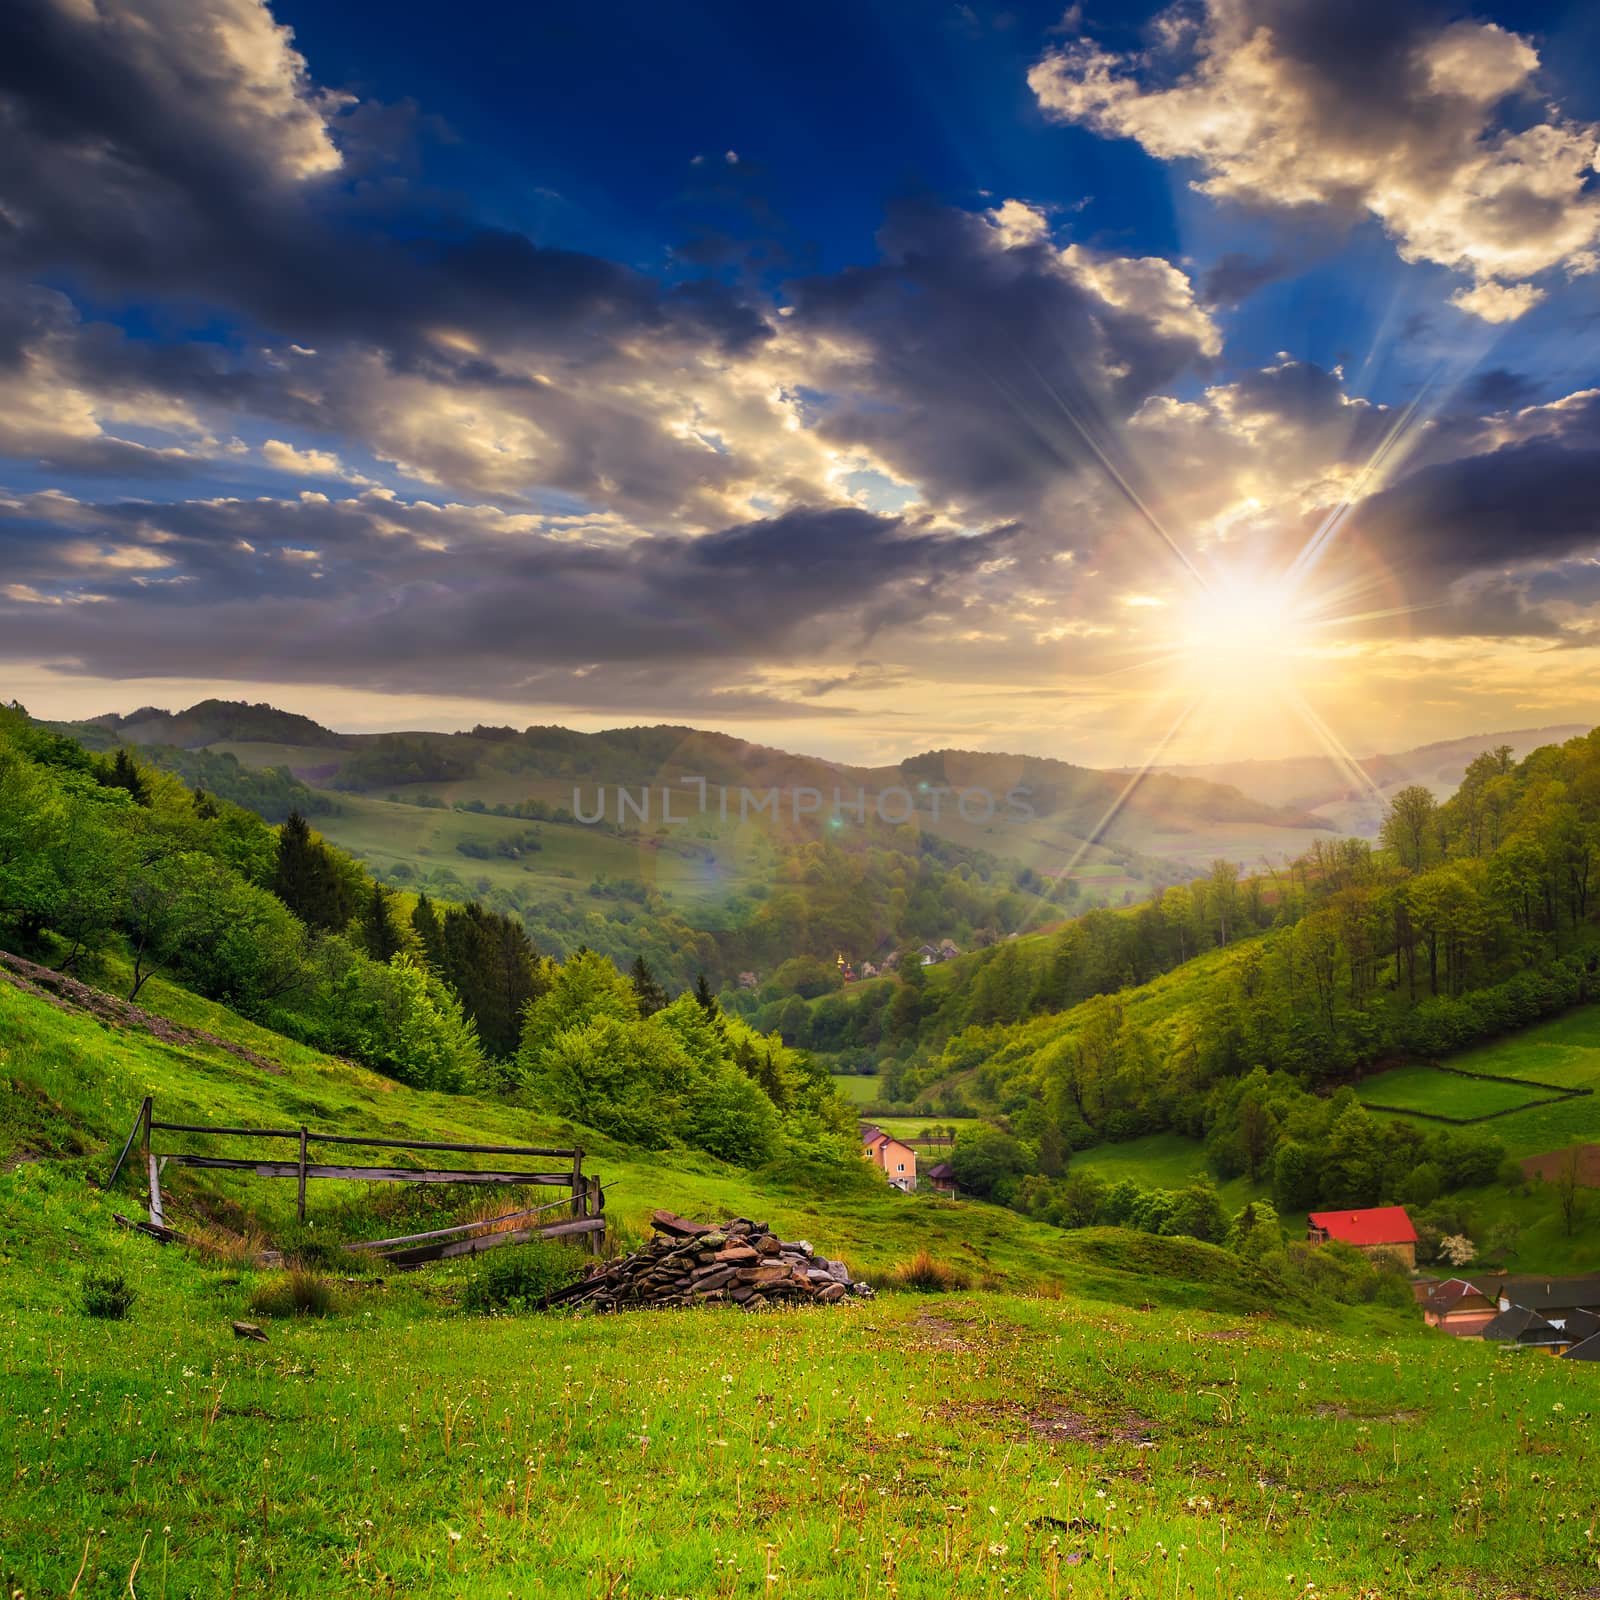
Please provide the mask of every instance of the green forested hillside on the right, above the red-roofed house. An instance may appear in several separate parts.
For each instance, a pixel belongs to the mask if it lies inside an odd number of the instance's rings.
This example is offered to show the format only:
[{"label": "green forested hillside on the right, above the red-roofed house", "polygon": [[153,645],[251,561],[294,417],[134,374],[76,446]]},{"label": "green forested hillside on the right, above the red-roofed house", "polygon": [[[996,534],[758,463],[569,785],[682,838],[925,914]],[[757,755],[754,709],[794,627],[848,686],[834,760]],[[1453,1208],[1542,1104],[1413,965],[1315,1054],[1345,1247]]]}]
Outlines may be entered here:
[{"label": "green forested hillside on the right, above the red-roofed house", "polygon": [[1338,1086],[1600,998],[1597,920],[1600,730],[1520,763],[1483,752],[1443,803],[1402,789],[1378,848],[1317,840],[1243,880],[1219,864],[1059,934],[746,1005],[840,1066],[880,1066],[896,1101],[1003,1120],[1006,1192],[1032,1176],[1040,1205],[1074,1149],[1155,1131],[1205,1139],[1218,1171],[1270,1176],[1288,1205],[1373,1205],[1422,1165],[1482,1181],[1494,1141],[1432,1150]]}]

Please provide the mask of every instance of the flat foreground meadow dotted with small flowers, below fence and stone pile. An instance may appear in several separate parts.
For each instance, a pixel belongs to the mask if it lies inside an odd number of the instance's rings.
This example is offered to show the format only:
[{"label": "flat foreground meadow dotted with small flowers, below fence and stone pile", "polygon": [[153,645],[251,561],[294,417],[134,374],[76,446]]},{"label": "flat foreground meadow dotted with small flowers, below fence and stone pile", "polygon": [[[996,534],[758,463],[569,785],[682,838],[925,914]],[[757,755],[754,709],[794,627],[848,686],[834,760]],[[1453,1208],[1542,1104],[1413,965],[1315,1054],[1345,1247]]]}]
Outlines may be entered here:
[{"label": "flat foreground meadow dotted with small flowers, below fence and stone pile", "polygon": [[[1578,1595],[1595,1370],[1082,1299],[227,1331],[18,1304],[26,1595]],[[1518,1419],[1501,1424],[1502,1414]],[[1462,1435],[1474,1440],[1461,1450]]]}]

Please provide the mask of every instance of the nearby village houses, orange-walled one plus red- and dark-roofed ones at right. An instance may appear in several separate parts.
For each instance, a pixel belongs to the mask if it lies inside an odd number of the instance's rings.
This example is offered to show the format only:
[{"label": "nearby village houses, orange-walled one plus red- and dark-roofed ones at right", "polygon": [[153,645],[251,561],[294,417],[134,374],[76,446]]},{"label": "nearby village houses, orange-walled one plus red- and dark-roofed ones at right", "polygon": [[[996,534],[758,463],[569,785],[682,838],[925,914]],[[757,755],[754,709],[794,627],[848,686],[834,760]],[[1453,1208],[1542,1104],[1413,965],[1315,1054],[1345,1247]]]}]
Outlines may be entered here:
[{"label": "nearby village houses, orange-walled one plus red- and dark-roofed ones at right", "polygon": [[[898,1139],[875,1123],[861,1125],[862,1158],[878,1166],[888,1186],[902,1194],[926,1187],[954,1197],[955,1173],[947,1157],[922,1174],[917,1171],[918,1147],[947,1149],[954,1142],[942,1136]],[[1576,1277],[1485,1274],[1478,1282],[1421,1275],[1418,1234],[1403,1205],[1309,1213],[1306,1242],[1325,1245],[1333,1240],[1373,1259],[1398,1261],[1411,1274],[1411,1293],[1429,1328],[1456,1339],[1483,1339],[1571,1362],[1600,1362],[1600,1272]]]}]

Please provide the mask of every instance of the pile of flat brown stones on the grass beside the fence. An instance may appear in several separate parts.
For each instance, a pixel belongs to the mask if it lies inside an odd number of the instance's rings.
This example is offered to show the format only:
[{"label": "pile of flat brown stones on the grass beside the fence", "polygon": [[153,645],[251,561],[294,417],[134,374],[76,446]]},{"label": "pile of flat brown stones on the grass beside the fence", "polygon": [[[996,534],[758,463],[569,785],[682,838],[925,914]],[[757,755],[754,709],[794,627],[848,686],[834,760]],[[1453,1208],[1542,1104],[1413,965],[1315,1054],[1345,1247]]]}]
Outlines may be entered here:
[{"label": "pile of flat brown stones on the grass beside the fence", "polygon": [[803,1240],[782,1240],[765,1222],[736,1216],[726,1222],[691,1222],[658,1211],[656,1237],[618,1261],[597,1264],[589,1277],[562,1290],[550,1304],[634,1310],[648,1306],[731,1304],[832,1306],[870,1298],[867,1283],[851,1282],[843,1261],[819,1256]]}]

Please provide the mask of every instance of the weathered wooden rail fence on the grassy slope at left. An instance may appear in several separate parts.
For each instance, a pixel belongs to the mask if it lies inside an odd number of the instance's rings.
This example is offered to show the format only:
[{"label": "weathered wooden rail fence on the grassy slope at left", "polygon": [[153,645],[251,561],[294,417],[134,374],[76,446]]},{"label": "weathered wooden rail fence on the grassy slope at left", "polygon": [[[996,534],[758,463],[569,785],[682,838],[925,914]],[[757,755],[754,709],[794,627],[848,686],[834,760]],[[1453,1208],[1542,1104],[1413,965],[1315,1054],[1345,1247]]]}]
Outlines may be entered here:
[{"label": "weathered wooden rail fence on the grassy slope at left", "polygon": [[[206,1134],[218,1139],[288,1139],[293,1141],[293,1155],[288,1160],[275,1160],[264,1155],[200,1155],[192,1150],[157,1150],[152,1144],[155,1133]],[[152,1098],[146,1094],[122,1154],[117,1157],[117,1165],[112,1168],[107,1189],[114,1187],[122,1176],[136,1144],[141,1146],[141,1165],[149,1174],[150,1221],[142,1230],[158,1237],[178,1237],[166,1227],[162,1206],[162,1173],[168,1166],[253,1173],[258,1178],[293,1178],[299,1187],[299,1219],[302,1222],[306,1221],[307,1186],[318,1178],[379,1184],[477,1184],[490,1187],[542,1184],[571,1190],[565,1200],[552,1200],[547,1205],[509,1211],[504,1216],[478,1222],[461,1222],[427,1234],[406,1234],[398,1238],[376,1238],[346,1246],[347,1250],[378,1251],[384,1261],[398,1267],[418,1267],[427,1261],[477,1254],[480,1250],[520,1245],[530,1238],[563,1238],[568,1235],[584,1237],[590,1253],[598,1254],[600,1235],[605,1232],[605,1186],[598,1178],[584,1173],[584,1152],[579,1149],[544,1149],[531,1144],[443,1144],[434,1139],[386,1139],[370,1133],[312,1133],[304,1126],[219,1128],[210,1123],[157,1122]],[[558,1158],[563,1165],[560,1171],[526,1171],[504,1166],[354,1166],[341,1162],[314,1162],[310,1158],[312,1146],[339,1146],[341,1149],[355,1146],[365,1150],[448,1155],[510,1155],[531,1160]],[[568,1210],[566,1219],[530,1221],[558,1208]],[[507,1227],[506,1224],[510,1222],[525,1226]]]}]

